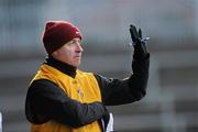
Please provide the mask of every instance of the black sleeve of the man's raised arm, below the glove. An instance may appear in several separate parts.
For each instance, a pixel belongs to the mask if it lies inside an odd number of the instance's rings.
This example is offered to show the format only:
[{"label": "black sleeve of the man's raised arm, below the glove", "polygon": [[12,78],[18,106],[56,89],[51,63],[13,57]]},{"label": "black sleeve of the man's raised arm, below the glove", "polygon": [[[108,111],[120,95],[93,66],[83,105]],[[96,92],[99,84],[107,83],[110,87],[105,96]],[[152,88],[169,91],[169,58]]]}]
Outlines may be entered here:
[{"label": "black sleeve of the man's raised arm, below the glove", "polygon": [[133,73],[123,80],[95,75],[100,86],[102,102],[106,106],[131,103],[146,94],[150,54],[144,59],[133,59]]}]

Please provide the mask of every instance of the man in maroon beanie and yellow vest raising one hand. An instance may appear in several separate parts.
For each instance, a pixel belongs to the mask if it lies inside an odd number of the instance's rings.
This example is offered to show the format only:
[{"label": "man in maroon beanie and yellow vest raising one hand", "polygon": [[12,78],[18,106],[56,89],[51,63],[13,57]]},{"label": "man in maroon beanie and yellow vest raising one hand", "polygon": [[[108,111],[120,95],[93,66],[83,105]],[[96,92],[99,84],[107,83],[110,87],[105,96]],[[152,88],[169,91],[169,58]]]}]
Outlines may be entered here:
[{"label": "man in maroon beanie and yellow vest raising one hand", "polygon": [[[32,132],[102,132],[112,117],[106,106],[131,103],[145,96],[148,58],[141,30],[130,28],[134,46],[133,74],[123,80],[78,69],[81,32],[67,21],[46,22],[48,57],[32,79],[25,114]],[[98,64],[100,65],[100,64]],[[111,117],[111,118],[110,118]]]}]

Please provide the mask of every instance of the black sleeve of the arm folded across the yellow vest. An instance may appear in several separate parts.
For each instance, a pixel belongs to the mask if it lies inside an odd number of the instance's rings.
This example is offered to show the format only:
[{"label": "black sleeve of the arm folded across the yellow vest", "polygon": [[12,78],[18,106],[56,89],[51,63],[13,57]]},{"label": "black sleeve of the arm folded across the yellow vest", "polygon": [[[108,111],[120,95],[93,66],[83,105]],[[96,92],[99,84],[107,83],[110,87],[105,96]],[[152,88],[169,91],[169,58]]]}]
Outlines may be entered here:
[{"label": "black sleeve of the arm folded across the yellow vest", "polygon": [[106,113],[107,109],[102,103],[80,103],[46,79],[34,80],[28,90],[25,114],[35,124],[55,120],[78,128],[99,120]]}]

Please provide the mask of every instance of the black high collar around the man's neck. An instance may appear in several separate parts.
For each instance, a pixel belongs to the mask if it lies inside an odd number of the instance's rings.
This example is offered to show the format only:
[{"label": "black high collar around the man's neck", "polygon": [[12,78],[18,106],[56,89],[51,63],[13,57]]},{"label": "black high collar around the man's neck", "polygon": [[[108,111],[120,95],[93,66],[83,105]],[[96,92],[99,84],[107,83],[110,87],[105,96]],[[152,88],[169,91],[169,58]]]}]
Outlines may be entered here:
[{"label": "black high collar around the man's neck", "polygon": [[76,69],[77,69],[76,67],[68,65],[66,63],[63,63],[61,61],[57,61],[56,58],[54,58],[52,56],[47,56],[45,58],[44,64],[52,66],[73,78],[76,77]]}]

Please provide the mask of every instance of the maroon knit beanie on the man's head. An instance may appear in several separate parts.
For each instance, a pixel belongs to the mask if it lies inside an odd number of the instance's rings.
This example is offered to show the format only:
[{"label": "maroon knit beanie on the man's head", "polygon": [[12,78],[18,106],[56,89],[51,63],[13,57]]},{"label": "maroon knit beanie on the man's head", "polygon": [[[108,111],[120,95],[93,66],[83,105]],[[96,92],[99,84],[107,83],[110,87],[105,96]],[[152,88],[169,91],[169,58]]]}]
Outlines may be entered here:
[{"label": "maroon knit beanie on the man's head", "polygon": [[47,21],[43,33],[43,43],[51,55],[70,40],[79,37],[81,33],[77,26],[68,21]]}]

